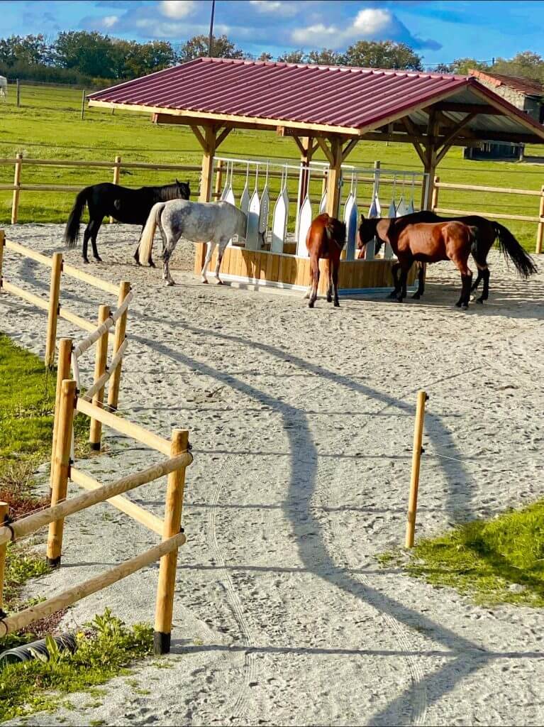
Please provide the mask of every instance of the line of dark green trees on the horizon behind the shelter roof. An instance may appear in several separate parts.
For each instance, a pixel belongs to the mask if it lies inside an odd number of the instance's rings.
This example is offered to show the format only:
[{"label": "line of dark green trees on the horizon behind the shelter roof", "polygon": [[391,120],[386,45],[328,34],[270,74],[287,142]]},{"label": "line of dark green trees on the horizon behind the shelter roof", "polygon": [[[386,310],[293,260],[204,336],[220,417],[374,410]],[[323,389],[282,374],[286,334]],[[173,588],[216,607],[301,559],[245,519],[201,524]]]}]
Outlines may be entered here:
[{"label": "line of dark green trees on the horizon behind the shelter roof", "polygon": [[[96,31],[65,31],[54,39],[43,35],[10,36],[0,39],[0,73],[11,78],[72,84],[102,84],[123,81],[161,71],[208,55],[208,36],[193,36],[177,49],[169,41],[138,43],[113,38]],[[237,47],[226,35],[215,37],[212,54],[221,58],[254,56]],[[410,46],[394,41],[357,41],[344,52],[328,48],[305,52],[293,50],[274,59],[262,53],[256,60],[286,63],[354,65],[363,68],[391,68],[423,71],[423,59]],[[474,58],[459,58],[439,64],[439,73],[465,75],[469,68],[511,76],[527,76],[544,81],[544,60],[537,53],[522,52],[510,60],[498,58],[493,64]]]}]

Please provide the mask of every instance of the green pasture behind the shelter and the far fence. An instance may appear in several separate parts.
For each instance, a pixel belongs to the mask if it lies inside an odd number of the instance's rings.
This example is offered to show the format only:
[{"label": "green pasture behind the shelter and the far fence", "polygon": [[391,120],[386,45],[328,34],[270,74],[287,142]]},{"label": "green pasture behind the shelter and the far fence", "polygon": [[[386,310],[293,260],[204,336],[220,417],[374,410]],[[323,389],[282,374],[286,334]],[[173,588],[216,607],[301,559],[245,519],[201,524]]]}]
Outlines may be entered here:
[{"label": "green pasture behind the shelter and the far fence", "polygon": [[[139,113],[86,108],[80,119],[81,91],[54,87],[21,87],[21,107],[15,105],[15,88],[9,87],[7,102],[0,103],[0,157],[12,158],[23,153],[32,158],[88,159],[107,161],[121,154],[123,161],[161,161],[171,164],[200,164],[201,152],[190,129],[184,126],[155,126],[150,116]],[[224,156],[263,157],[296,160],[293,140],[278,137],[273,132],[238,130],[232,132],[220,148]],[[544,154],[533,147],[527,153]],[[468,161],[462,149],[453,148],[439,166],[443,182],[458,182],[496,187],[540,190],[544,169],[540,164],[524,162]],[[315,156],[322,159],[321,153]],[[421,172],[421,162],[408,144],[360,142],[349,156],[350,164],[372,166],[379,159],[386,168]],[[121,184],[144,185],[172,182],[172,172],[121,169]],[[189,178],[194,193],[198,190],[198,172],[178,174]],[[0,166],[0,183],[11,183],[13,167]],[[111,180],[109,169],[63,169],[59,167],[23,166],[23,183],[89,185]],[[235,179],[239,195],[243,179]],[[344,186],[344,195],[347,186]],[[409,193],[407,183],[406,193]],[[370,185],[363,188],[364,209]],[[272,199],[278,182],[272,182]],[[390,188],[381,194],[382,206],[389,206]],[[291,193],[296,194],[293,182]],[[312,196],[320,196],[320,182],[312,186]],[[9,222],[11,192],[0,192],[0,224]],[[398,197],[397,197],[398,200]],[[64,222],[73,204],[73,193],[23,192],[20,198],[20,222]],[[439,206],[471,209],[481,212],[508,214],[537,214],[538,198],[495,193],[475,193],[441,190]],[[536,225],[527,222],[507,222],[508,228],[529,250],[535,246]]]}]

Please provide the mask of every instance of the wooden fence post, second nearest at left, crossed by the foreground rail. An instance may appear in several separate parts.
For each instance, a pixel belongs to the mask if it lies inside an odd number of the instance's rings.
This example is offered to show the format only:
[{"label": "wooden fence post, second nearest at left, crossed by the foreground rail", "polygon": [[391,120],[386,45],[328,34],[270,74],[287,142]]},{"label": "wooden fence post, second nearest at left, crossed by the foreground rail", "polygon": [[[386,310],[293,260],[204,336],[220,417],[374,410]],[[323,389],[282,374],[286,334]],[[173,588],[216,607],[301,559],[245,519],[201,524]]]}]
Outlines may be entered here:
[{"label": "wooden fence post, second nearest at left, crossed by the foreground rail", "polygon": [[[59,420],[57,425],[57,444],[53,465],[53,486],[51,504],[57,505],[66,499],[68,491],[68,472],[70,470],[70,449],[72,446],[73,413],[76,410],[76,382],[66,380],[60,387]],[[52,568],[60,566],[62,555],[62,531],[64,520],[49,525],[47,537],[47,562]]]}]

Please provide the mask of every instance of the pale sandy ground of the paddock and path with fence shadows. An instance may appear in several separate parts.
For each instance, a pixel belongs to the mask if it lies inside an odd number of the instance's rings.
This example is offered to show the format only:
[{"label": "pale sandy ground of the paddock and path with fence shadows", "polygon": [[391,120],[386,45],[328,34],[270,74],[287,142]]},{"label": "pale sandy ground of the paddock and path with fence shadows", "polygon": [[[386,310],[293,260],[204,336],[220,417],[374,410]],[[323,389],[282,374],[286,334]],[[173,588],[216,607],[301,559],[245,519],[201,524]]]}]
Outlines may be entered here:
[{"label": "pale sandy ground of the paddock and path with fence shadows", "polygon": [[[7,228],[47,253],[61,233]],[[165,436],[187,427],[194,447],[173,653],[32,723],[542,724],[540,611],[479,608],[375,555],[404,539],[418,388],[430,401],[417,537],[544,496],[544,276],[519,281],[492,254],[490,302],[467,313],[452,307],[450,264],[431,268],[419,302],[342,300],[335,310],[319,300],[309,310],[293,295],[201,285],[188,247],[174,262],[179,285],[167,288],[159,270],[131,265],[133,239],[107,226],[105,262],[86,269],[134,286],[123,414]],[[68,258],[80,265],[76,251]],[[46,295],[32,261],[6,254],[4,271]],[[76,281],[62,300],[91,316],[110,302]],[[0,314],[4,332],[43,354],[44,315],[8,296]],[[81,364],[89,382],[92,366]],[[105,443],[107,455],[80,463],[103,481],[155,458],[110,431]],[[158,481],[132,497],[161,515],[164,491]],[[107,505],[65,532],[64,567],[38,593],[157,542]],[[153,621],[156,581],[157,566],[140,571],[79,603],[65,626],[105,606]]]}]

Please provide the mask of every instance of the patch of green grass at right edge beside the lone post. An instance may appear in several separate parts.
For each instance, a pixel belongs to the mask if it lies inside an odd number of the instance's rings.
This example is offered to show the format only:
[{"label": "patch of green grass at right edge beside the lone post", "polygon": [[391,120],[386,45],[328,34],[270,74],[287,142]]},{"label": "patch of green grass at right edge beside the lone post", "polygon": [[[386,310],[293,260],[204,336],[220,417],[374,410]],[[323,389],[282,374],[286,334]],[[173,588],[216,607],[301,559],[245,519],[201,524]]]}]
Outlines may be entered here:
[{"label": "patch of green grass at right edge beside the lone post", "polygon": [[[394,559],[386,554],[382,562]],[[544,606],[544,501],[422,540],[405,566],[415,577],[451,586],[482,605]],[[511,588],[512,587],[512,588]]]}]

